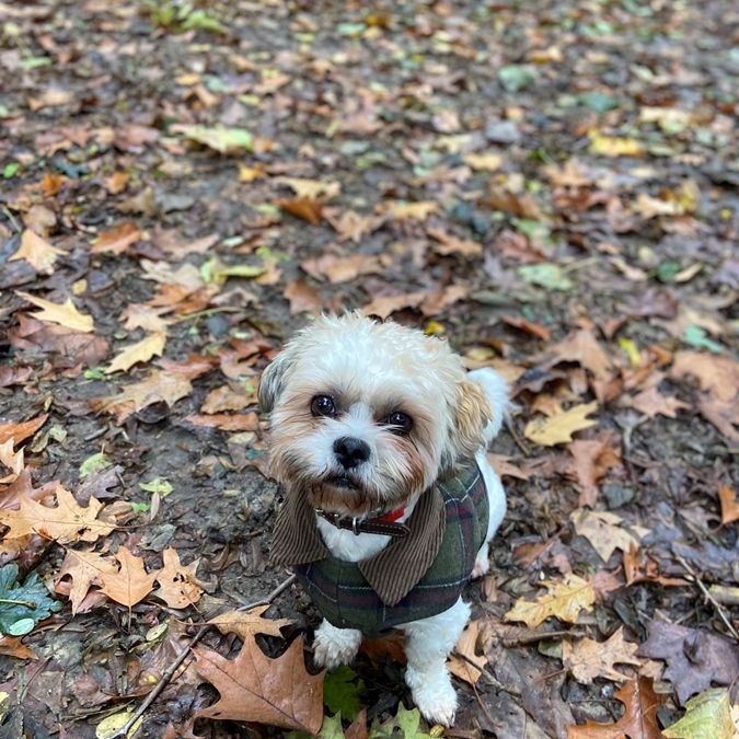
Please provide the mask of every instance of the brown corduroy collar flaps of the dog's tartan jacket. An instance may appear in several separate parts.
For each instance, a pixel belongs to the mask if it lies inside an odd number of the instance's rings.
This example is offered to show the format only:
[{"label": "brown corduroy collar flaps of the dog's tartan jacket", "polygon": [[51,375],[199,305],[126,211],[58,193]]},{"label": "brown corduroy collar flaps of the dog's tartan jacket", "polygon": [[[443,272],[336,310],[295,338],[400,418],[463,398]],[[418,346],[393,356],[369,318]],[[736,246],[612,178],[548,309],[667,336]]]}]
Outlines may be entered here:
[{"label": "brown corduroy collar flaps of the dog's tartan jacket", "polygon": [[[439,553],[447,516],[443,498],[436,486],[420,496],[411,518],[402,526],[407,527],[407,535],[393,539],[378,554],[357,563],[365,579],[391,607],[405,598]],[[291,566],[328,556],[315,524],[315,511],[304,493],[288,493],[275,522],[270,561]]]}]

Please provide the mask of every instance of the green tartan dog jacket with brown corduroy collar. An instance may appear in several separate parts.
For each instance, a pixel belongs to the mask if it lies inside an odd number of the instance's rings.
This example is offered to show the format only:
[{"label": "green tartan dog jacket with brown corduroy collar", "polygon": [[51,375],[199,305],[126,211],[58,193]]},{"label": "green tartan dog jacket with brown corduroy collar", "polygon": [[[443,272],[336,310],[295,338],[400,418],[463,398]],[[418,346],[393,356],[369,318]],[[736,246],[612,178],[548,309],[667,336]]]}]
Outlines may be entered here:
[{"label": "green tartan dog jacket with brown corduroy collar", "polygon": [[[408,536],[393,540],[373,557],[351,563],[332,556],[313,515],[317,545],[313,542],[304,556],[293,553],[292,558],[302,562],[281,564],[293,565],[313,603],[334,626],[379,635],[442,613],[457,602],[485,541],[488,516],[485,482],[472,461],[426,490],[406,521]],[[284,549],[280,540],[289,535],[285,528],[280,531],[278,517],[273,557],[278,563]],[[305,532],[293,534],[292,541],[296,535],[304,538]]]}]

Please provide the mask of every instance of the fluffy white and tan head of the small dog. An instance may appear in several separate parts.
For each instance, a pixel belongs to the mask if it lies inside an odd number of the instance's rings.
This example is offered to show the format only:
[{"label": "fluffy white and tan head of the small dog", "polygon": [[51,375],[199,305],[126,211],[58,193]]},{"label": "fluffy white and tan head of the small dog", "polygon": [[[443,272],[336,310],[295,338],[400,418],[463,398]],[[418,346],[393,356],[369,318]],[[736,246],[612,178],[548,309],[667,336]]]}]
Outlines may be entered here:
[{"label": "fluffy white and tan head of the small dog", "polygon": [[419,331],[319,319],[259,383],[275,476],[327,511],[401,507],[480,447],[490,409],[465,376],[446,343]]}]

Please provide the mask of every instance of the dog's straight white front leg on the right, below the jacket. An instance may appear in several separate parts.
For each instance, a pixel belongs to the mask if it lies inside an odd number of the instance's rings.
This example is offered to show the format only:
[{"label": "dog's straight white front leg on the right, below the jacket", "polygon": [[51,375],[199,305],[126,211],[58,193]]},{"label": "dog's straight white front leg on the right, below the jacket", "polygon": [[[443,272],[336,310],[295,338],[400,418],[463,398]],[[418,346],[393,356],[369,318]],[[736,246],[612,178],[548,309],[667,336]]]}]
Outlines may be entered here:
[{"label": "dog's straight white front leg on the right, below the jacket", "polygon": [[451,726],[457,713],[457,693],[447,669],[470,619],[470,607],[460,598],[448,611],[400,626],[405,632],[408,667],[405,682],[424,717],[431,724]]}]

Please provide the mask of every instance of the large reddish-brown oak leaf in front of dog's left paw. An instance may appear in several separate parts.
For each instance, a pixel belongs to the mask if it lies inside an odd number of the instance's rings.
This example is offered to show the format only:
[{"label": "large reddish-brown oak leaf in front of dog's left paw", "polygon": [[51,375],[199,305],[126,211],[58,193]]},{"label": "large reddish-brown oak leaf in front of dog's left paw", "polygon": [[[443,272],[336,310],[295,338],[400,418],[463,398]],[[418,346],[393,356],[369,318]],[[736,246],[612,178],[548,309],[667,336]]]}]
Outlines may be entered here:
[{"label": "large reddish-brown oak leaf in front of dog's left paw", "polygon": [[303,640],[297,638],[277,659],[269,659],[254,639],[235,659],[194,649],[195,669],[220,693],[199,717],[279,726],[317,734],[323,723],[323,673],[311,676],[303,661]]}]

